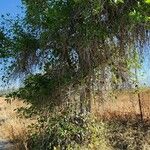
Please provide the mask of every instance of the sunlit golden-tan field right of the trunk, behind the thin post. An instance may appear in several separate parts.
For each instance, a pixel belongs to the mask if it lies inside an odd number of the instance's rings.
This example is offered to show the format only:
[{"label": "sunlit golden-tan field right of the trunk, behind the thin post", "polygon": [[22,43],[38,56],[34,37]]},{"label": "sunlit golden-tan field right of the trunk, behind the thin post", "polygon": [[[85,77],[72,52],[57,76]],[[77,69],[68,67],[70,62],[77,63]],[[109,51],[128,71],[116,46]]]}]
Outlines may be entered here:
[{"label": "sunlit golden-tan field right of the trunk, behind the thin post", "polygon": [[[144,119],[150,119],[150,90],[140,92]],[[112,116],[125,117],[139,116],[139,101],[137,93],[122,92],[111,96],[109,101],[101,104],[94,103],[93,111],[97,116],[111,118]]]}]

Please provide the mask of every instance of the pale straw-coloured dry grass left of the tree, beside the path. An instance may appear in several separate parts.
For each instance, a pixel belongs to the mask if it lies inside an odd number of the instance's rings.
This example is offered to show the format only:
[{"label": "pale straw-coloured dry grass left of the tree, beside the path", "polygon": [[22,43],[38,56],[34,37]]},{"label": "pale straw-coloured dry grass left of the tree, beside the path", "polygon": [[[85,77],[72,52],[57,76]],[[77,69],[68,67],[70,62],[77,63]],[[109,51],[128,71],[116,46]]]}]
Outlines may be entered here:
[{"label": "pale straw-coloured dry grass left of the tree, beside the path", "polygon": [[27,126],[33,122],[17,116],[14,110],[22,106],[21,101],[10,104],[0,98],[0,138],[12,142],[15,150],[27,150]]}]

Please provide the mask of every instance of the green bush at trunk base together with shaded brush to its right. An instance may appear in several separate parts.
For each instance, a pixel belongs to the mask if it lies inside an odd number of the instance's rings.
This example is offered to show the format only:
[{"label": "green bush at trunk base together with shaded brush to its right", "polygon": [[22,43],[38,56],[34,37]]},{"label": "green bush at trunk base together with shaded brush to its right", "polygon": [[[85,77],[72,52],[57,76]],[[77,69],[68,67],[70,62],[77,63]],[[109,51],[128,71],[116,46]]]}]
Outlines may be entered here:
[{"label": "green bush at trunk base together with shaded brush to its right", "polygon": [[145,150],[150,148],[150,123],[58,113],[30,126],[28,146],[31,150]]}]

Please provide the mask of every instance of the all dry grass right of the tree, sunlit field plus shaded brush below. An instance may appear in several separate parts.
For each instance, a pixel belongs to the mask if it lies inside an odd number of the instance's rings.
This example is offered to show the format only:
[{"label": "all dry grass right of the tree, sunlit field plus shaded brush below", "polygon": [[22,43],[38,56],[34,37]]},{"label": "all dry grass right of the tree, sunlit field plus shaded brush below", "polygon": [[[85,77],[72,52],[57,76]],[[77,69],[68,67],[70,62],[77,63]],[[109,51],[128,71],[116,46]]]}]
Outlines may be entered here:
[{"label": "all dry grass right of the tree, sunlit field plus shaded brush below", "polygon": [[109,101],[93,105],[95,115],[106,124],[106,140],[112,150],[150,150],[150,89],[142,90],[140,98],[142,121],[138,95],[133,91],[117,93]]}]

